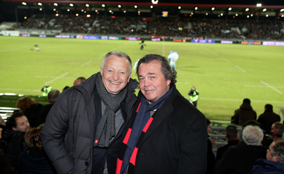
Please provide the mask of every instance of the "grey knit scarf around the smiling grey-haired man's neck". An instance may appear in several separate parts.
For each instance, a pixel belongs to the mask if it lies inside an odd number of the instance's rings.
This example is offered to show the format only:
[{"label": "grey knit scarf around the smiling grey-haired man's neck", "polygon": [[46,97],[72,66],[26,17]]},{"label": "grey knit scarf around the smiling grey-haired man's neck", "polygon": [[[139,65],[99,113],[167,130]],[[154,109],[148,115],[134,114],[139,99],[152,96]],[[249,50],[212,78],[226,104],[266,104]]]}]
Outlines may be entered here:
[{"label": "grey knit scarf around the smiling grey-haired man's neck", "polygon": [[107,92],[103,85],[101,74],[98,74],[95,86],[106,108],[96,129],[94,147],[109,147],[110,139],[116,136],[115,113],[120,109],[120,104],[126,97],[127,85],[114,96]]}]

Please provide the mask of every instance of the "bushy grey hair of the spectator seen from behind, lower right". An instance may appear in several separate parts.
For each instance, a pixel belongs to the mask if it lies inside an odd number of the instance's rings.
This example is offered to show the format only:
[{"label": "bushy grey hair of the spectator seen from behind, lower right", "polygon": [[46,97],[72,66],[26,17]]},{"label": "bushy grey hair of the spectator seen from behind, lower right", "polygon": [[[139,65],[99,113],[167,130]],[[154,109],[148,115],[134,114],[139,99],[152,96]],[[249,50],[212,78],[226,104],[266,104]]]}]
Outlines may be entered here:
[{"label": "bushy grey hair of the spectator seen from behind, lower right", "polygon": [[263,136],[259,126],[246,126],[242,132],[242,139],[247,145],[261,146]]}]

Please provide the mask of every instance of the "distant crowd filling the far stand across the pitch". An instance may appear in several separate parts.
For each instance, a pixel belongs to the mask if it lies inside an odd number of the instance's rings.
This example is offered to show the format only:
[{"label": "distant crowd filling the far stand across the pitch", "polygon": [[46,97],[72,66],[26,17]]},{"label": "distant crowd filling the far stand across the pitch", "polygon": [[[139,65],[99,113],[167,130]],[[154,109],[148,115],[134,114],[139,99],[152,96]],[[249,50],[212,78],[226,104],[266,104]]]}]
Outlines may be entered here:
[{"label": "distant crowd filling the far stand across the pitch", "polygon": [[[145,18],[144,18],[145,19]],[[22,29],[56,29],[64,33],[105,35],[156,35],[203,39],[268,39],[284,40],[284,23],[274,21],[162,18],[151,20],[130,17],[56,17],[28,19]]]}]

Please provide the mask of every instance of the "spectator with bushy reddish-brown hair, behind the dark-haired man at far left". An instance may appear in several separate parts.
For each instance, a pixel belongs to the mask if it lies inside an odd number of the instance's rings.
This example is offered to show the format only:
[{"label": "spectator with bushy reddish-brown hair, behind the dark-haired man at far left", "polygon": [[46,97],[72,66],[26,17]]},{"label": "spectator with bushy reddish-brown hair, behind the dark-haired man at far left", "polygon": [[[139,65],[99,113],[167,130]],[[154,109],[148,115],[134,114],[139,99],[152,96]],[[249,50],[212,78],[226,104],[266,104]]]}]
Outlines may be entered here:
[{"label": "spectator with bushy reddish-brown hair, behind the dark-haired man at far left", "polygon": [[30,127],[35,127],[36,125],[36,116],[42,110],[43,105],[40,103],[35,103],[34,98],[22,97],[17,101],[17,108],[20,108],[20,111],[24,112],[24,115],[27,117]]}]

